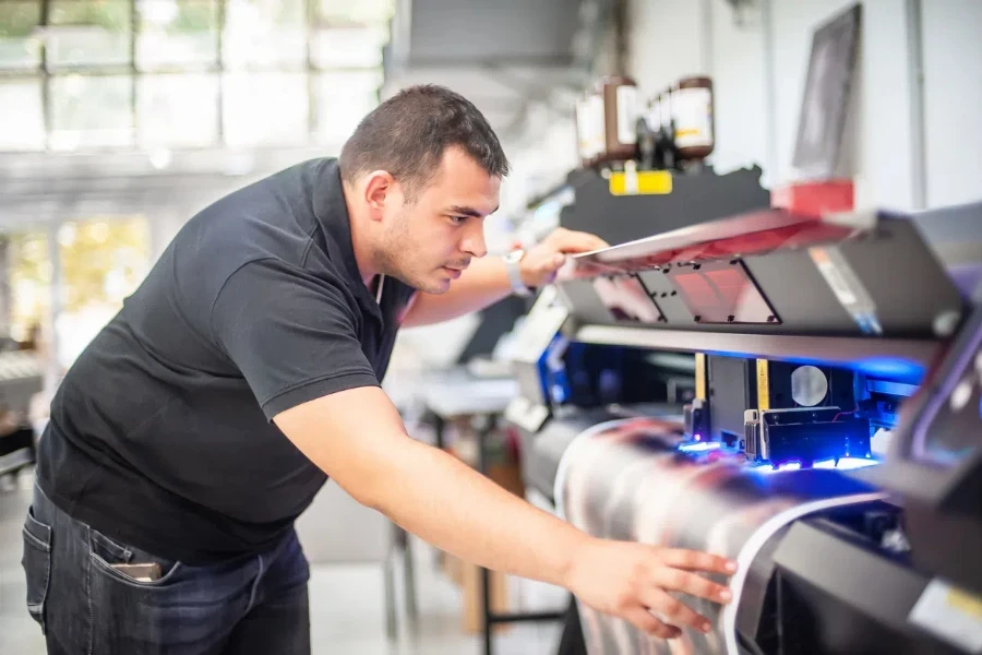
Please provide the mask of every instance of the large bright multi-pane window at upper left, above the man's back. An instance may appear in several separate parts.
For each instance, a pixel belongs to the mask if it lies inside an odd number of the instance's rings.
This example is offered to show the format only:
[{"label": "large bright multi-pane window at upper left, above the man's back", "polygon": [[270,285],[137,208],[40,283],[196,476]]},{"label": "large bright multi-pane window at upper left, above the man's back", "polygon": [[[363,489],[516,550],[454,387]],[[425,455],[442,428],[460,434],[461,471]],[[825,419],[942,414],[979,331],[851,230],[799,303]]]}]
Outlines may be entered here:
[{"label": "large bright multi-pane window at upper left, above the man's back", "polygon": [[340,145],[394,0],[0,0],[0,152]]}]

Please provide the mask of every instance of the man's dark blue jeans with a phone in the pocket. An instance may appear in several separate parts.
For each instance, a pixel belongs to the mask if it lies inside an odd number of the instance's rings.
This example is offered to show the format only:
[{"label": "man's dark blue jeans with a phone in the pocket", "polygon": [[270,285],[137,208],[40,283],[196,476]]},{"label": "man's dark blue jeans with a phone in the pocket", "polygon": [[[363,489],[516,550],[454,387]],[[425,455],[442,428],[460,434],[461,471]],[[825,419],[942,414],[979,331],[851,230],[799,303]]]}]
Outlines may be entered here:
[{"label": "man's dark blue jeans with a phone in the pocket", "polygon": [[[112,568],[147,562],[159,580]],[[294,531],[265,553],[191,567],[107,538],[35,487],[22,563],[49,655],[310,653],[310,570]]]}]

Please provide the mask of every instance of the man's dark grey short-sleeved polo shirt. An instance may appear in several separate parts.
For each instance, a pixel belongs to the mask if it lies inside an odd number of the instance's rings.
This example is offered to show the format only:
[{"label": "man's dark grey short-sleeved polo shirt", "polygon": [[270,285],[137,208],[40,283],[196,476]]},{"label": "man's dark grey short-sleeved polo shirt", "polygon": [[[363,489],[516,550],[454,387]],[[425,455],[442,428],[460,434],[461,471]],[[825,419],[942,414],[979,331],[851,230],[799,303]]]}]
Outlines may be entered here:
[{"label": "man's dark grey short-sleeved polo shirt", "polygon": [[378,385],[412,294],[385,278],[380,305],[362,283],[334,159],[231,193],[180,230],[68,372],[41,489],[165,558],[270,546],[325,481],[272,417]]}]

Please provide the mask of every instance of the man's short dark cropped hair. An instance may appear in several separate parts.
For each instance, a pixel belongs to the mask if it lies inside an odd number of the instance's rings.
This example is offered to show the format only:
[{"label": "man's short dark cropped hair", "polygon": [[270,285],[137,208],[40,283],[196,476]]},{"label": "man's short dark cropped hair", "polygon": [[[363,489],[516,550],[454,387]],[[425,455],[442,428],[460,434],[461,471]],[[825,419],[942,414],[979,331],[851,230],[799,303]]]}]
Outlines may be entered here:
[{"label": "man's short dark cropped hair", "polygon": [[433,178],[444,151],[453,145],[464,148],[489,175],[508,174],[498,135],[470,100],[443,86],[410,86],[361,120],[342,148],[338,165],[348,182],[371,170],[387,170],[412,198]]}]

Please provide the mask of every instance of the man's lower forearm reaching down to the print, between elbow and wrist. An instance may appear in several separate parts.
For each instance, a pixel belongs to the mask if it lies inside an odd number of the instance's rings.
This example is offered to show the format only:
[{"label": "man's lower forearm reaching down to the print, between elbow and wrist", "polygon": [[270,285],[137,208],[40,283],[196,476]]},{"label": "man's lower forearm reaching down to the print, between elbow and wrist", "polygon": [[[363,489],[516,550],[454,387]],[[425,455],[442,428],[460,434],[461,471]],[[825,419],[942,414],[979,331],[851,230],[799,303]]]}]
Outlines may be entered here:
[{"label": "man's lower forearm reaching down to the print, between elbow and wrist", "polygon": [[471,563],[562,585],[589,540],[438,449],[407,440],[390,462],[367,504]]}]

